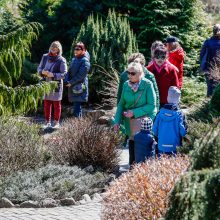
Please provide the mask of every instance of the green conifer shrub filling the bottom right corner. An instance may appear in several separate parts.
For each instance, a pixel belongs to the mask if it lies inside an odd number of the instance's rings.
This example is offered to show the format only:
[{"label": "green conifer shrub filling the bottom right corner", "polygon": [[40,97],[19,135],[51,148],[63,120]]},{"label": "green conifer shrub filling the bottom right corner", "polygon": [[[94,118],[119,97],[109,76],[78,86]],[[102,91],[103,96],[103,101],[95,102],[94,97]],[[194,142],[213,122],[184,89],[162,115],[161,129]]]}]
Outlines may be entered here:
[{"label": "green conifer shrub filling the bottom right corner", "polygon": [[166,220],[212,219],[220,216],[220,169],[189,172],[175,185]]}]

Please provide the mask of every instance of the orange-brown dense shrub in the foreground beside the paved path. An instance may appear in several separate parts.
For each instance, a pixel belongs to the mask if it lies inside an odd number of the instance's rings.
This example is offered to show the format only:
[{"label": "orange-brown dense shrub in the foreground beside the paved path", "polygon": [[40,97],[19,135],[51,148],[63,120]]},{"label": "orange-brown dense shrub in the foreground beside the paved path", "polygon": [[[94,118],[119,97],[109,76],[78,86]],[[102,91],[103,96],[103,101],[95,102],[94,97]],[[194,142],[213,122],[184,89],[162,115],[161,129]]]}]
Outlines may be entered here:
[{"label": "orange-brown dense shrub in the foreground beside the paved path", "polygon": [[103,201],[103,220],[163,217],[168,195],[189,166],[187,156],[149,159],[117,179]]}]

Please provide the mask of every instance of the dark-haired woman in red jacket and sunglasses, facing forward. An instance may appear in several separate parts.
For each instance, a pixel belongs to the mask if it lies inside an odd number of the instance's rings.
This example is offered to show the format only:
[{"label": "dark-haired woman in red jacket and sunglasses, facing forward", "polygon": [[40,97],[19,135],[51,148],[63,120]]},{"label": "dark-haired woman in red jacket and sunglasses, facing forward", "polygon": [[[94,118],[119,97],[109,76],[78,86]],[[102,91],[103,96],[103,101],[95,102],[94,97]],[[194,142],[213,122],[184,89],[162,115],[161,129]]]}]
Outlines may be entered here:
[{"label": "dark-haired woman in red jacket and sunglasses, facing forward", "polygon": [[167,60],[168,52],[165,47],[158,47],[153,52],[153,62],[147,66],[156,78],[160,108],[167,104],[167,95],[170,86],[179,87],[177,69]]}]

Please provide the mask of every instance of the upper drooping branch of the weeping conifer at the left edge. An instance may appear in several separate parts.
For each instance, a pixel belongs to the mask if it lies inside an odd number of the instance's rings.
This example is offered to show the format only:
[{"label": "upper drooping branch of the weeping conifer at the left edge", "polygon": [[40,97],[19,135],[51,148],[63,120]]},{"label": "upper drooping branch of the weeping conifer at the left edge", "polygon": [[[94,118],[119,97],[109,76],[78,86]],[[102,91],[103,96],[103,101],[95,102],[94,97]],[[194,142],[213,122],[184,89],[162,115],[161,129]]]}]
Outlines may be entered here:
[{"label": "upper drooping branch of the weeping conifer at the left edge", "polygon": [[29,23],[7,35],[0,35],[0,82],[13,86],[21,75],[22,63],[30,55],[31,43],[37,38],[41,25]]}]

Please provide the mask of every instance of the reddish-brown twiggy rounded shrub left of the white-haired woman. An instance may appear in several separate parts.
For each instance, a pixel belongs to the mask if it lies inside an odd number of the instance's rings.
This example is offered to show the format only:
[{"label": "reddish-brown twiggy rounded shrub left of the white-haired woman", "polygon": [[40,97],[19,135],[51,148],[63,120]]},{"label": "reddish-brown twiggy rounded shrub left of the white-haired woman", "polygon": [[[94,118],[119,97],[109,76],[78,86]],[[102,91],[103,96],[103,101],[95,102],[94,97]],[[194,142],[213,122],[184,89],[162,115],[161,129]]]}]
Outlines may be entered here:
[{"label": "reddish-brown twiggy rounded shrub left of the white-haired woman", "polygon": [[59,164],[114,171],[119,162],[119,134],[91,119],[69,119],[59,136],[47,140],[54,161]]}]

